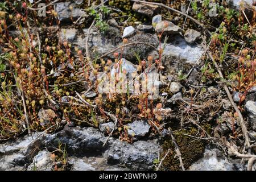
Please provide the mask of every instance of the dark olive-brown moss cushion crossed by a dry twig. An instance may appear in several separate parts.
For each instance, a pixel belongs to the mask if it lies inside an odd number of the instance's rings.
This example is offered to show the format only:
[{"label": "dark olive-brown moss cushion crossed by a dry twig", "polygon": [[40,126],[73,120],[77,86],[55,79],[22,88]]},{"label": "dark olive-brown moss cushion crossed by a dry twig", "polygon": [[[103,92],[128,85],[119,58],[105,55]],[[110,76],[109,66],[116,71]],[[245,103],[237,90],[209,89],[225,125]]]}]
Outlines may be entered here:
[{"label": "dark olive-brown moss cushion crossed by a dry twig", "polygon": [[[176,138],[177,145],[180,148],[181,156],[183,159],[184,167],[187,169],[193,162],[203,156],[205,144],[201,140],[197,140],[192,137],[188,137],[182,134],[195,135],[197,133],[197,129],[191,128],[188,130],[181,130],[179,133],[174,133],[174,137]],[[167,155],[166,159],[163,162],[163,167],[167,170],[171,171],[179,171],[181,169],[179,158],[175,158],[175,146],[172,143],[171,137],[167,137],[163,144],[163,152],[161,154],[161,158],[166,155],[168,149],[171,149],[169,155]]]}]

